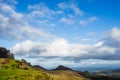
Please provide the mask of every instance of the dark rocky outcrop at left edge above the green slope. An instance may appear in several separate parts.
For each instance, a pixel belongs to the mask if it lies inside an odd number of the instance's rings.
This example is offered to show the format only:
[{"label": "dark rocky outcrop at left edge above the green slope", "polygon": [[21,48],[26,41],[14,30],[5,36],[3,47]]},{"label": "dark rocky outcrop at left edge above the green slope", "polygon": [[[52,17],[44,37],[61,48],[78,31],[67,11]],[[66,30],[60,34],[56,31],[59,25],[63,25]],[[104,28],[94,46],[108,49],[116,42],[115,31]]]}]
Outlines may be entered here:
[{"label": "dark rocky outcrop at left edge above the green slope", "polygon": [[10,53],[9,50],[7,50],[4,47],[0,47],[0,58],[12,58],[14,59],[14,55]]}]

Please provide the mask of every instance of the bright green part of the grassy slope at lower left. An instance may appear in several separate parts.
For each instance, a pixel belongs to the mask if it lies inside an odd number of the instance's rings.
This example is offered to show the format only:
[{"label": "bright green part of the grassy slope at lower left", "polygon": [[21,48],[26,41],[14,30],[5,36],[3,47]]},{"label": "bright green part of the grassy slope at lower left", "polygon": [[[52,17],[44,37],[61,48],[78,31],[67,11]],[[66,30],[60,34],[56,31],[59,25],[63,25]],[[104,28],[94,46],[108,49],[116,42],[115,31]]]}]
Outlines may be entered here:
[{"label": "bright green part of the grassy slope at lower left", "polygon": [[50,80],[48,75],[40,70],[28,67],[28,70],[19,69],[16,60],[0,59],[0,62],[8,60],[0,69],[0,80]]}]

